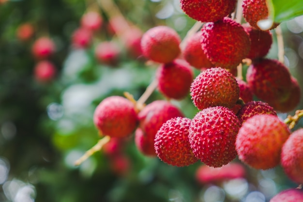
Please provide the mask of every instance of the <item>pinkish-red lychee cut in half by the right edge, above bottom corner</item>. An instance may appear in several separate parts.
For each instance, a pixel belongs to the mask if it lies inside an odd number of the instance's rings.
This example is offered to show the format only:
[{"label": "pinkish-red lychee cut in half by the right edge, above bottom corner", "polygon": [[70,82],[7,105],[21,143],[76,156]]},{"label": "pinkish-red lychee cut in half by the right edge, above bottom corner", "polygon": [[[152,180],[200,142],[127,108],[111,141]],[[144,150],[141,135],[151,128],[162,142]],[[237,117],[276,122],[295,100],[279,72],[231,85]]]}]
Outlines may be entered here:
[{"label": "pinkish-red lychee cut in half by the right edge, above bottom corner", "polygon": [[303,128],[294,131],[283,145],[281,166],[292,181],[303,184]]}]

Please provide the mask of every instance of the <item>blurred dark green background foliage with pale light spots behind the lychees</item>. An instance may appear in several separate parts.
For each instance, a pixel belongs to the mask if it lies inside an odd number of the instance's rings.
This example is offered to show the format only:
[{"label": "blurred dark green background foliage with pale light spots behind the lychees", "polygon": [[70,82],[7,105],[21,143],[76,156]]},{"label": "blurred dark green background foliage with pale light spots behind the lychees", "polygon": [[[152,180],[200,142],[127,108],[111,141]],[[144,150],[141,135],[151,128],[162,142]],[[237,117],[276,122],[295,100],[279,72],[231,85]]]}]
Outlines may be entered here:
[{"label": "blurred dark green background foliage with pale light spots behind the lychees", "polygon": [[[182,13],[179,0],[115,3],[143,32],[167,25],[184,38],[195,23]],[[104,19],[95,40],[114,40],[122,48],[115,67],[96,61],[95,43],[87,49],[71,46],[73,31],[88,7]],[[99,102],[123,92],[138,99],[155,76],[156,65],[129,57],[119,38],[106,30],[106,22],[108,16],[93,0],[0,0],[0,202],[266,202],[278,191],[296,186],[280,167],[269,171],[245,167],[246,179],[201,184],[195,178],[201,163],[176,168],[146,157],[136,149],[133,136],[123,140],[124,160],[115,164],[101,151],[74,166],[100,138],[92,123]],[[23,23],[35,28],[28,41],[16,37]],[[281,27],[285,63],[302,87],[303,16]],[[33,75],[37,61],[31,46],[40,36],[49,36],[57,47],[50,60],[58,72],[47,83]],[[276,59],[274,31],[273,38],[268,57]],[[156,99],[164,99],[157,90],[147,103]],[[172,102],[188,118],[197,113],[190,97]],[[303,102],[297,109],[303,109]],[[287,114],[279,116],[285,119]]]}]

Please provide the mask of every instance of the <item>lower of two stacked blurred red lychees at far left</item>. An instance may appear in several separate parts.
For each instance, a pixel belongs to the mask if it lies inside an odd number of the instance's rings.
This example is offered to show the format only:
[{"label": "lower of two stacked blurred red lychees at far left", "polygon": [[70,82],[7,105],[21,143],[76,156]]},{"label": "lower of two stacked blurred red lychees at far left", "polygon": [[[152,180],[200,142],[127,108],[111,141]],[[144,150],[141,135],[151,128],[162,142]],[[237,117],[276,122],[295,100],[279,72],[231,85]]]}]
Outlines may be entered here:
[{"label": "lower of two stacked blurred red lychees at far left", "polygon": [[49,82],[56,76],[57,69],[50,61],[40,61],[34,67],[34,77],[40,82]]}]

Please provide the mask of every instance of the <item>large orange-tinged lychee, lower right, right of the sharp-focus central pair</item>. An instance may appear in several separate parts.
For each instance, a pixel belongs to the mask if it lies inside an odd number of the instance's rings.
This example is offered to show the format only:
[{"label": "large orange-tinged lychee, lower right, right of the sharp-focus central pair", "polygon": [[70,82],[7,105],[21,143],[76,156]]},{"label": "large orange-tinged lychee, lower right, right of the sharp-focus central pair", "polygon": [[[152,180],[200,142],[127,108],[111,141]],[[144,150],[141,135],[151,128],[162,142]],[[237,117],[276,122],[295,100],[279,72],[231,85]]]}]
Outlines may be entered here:
[{"label": "large orange-tinged lychee, lower right, right of the sharp-focus central pair", "polygon": [[255,169],[267,170],[280,163],[281,150],[290,131],[287,124],[272,114],[247,119],[236,140],[239,159]]}]

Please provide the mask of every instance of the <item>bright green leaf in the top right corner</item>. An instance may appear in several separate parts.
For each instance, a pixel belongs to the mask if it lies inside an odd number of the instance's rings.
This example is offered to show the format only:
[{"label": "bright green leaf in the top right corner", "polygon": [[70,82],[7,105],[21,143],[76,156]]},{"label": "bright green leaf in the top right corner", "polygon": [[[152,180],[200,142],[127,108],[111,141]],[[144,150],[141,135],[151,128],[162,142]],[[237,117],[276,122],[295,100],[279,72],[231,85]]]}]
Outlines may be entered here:
[{"label": "bright green leaf in the top right corner", "polygon": [[267,0],[269,16],[274,22],[284,22],[303,15],[303,0]]}]

